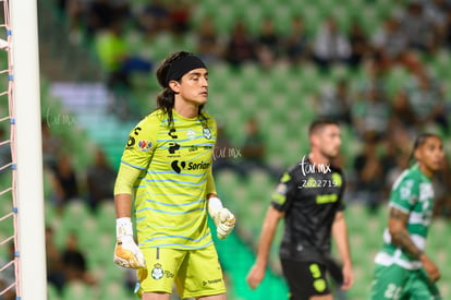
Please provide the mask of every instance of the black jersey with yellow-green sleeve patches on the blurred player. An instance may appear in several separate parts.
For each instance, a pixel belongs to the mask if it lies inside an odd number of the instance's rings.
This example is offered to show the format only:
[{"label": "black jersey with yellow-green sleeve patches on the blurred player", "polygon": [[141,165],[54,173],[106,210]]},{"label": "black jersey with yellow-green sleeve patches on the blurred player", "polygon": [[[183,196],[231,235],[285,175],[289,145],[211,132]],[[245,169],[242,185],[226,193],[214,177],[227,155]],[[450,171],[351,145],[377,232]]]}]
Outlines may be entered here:
[{"label": "black jersey with yellow-green sleeve patches on the blurred player", "polygon": [[344,209],[341,169],[304,159],[280,179],[271,205],[285,213],[282,259],[324,262],[330,255],[331,226]]}]

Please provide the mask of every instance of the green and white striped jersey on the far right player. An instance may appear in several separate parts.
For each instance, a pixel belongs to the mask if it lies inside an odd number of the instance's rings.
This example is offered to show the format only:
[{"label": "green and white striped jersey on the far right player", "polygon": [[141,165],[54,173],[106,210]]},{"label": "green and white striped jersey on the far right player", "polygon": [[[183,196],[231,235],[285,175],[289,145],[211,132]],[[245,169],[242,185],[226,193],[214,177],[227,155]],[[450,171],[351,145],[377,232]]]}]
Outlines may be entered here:
[{"label": "green and white striped jersey on the far right player", "polygon": [[[406,225],[409,235],[416,247],[424,250],[432,218],[434,189],[431,179],[419,170],[418,165],[406,169],[397,179],[390,193],[389,206],[410,215]],[[394,263],[407,269],[422,267],[419,261],[391,243],[388,228],[383,231],[383,247],[375,262],[381,265]]]}]

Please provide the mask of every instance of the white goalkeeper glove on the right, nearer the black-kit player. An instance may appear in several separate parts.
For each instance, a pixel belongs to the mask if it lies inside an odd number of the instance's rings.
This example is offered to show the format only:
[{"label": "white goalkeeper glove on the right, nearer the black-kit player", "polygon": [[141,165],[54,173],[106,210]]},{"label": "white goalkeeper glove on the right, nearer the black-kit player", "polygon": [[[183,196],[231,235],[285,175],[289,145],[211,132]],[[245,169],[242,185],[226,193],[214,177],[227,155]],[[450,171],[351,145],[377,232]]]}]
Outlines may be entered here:
[{"label": "white goalkeeper glove on the right, nearer the black-kit player", "polygon": [[216,196],[208,200],[208,213],[215,221],[217,237],[226,239],[235,227],[235,216],[222,207],[222,202]]}]

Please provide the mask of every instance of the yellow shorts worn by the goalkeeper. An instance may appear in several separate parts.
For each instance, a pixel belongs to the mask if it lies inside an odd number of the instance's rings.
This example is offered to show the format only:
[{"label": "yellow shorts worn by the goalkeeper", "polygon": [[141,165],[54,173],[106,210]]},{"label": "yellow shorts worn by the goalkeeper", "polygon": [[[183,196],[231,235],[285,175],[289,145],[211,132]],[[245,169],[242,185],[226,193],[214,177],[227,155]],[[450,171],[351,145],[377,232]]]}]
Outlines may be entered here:
[{"label": "yellow shorts worn by the goalkeeper", "polygon": [[142,251],[147,268],[137,271],[139,297],[144,292],[172,293],[174,284],[182,299],[227,291],[214,244],[194,250],[145,248]]}]

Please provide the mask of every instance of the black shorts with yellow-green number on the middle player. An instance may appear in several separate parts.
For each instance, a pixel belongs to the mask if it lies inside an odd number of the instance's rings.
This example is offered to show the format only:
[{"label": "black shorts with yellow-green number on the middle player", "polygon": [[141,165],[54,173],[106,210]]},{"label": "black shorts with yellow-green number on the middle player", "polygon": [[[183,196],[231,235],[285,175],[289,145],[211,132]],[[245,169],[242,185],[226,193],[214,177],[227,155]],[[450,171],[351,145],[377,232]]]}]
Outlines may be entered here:
[{"label": "black shorts with yellow-green number on the middle player", "polygon": [[290,287],[290,300],[308,300],[312,296],[330,293],[325,265],[287,259],[282,259],[281,263]]}]

